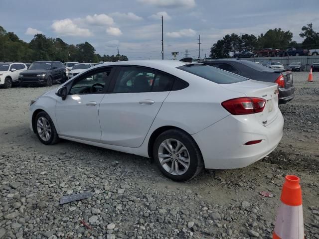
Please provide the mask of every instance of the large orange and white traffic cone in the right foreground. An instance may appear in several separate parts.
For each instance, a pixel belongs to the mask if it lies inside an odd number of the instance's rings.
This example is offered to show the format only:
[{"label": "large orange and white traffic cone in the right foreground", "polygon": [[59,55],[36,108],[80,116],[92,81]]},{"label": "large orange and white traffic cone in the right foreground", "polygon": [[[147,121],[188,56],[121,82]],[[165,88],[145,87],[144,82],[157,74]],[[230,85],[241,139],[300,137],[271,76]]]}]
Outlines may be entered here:
[{"label": "large orange and white traffic cone in the right foreground", "polygon": [[273,239],[304,239],[300,179],[294,175],[287,175],[285,179]]}]

